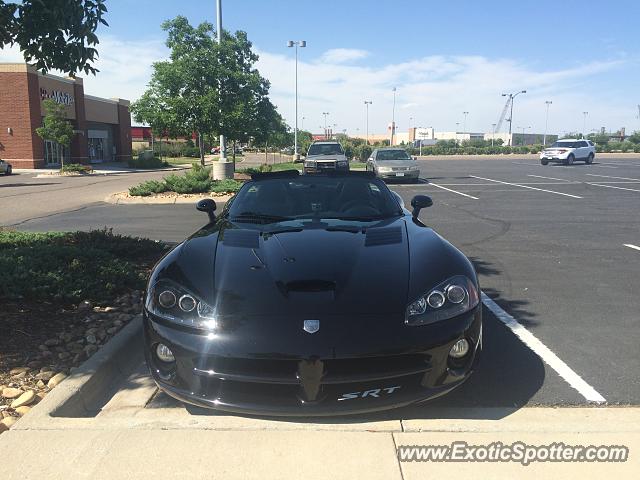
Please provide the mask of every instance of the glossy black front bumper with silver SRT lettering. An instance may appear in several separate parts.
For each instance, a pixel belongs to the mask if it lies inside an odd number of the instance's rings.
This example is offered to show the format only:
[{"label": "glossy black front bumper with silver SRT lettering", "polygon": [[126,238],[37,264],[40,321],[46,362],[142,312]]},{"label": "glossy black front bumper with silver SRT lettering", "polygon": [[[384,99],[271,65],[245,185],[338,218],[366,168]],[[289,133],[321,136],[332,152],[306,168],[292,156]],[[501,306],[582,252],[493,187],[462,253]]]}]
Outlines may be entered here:
[{"label": "glossy black front bumper with silver SRT lettering", "polygon": [[[355,356],[251,349],[229,356],[228,348],[217,352],[206,335],[164,325],[145,312],[145,356],[161,390],[200,407],[275,416],[367,413],[435,398],[462,384],[480,358],[481,312],[478,306],[435,329],[406,327],[411,344],[369,353],[360,346]],[[454,361],[449,350],[463,337],[470,351]],[[158,343],[173,351],[171,366],[155,355]]]}]

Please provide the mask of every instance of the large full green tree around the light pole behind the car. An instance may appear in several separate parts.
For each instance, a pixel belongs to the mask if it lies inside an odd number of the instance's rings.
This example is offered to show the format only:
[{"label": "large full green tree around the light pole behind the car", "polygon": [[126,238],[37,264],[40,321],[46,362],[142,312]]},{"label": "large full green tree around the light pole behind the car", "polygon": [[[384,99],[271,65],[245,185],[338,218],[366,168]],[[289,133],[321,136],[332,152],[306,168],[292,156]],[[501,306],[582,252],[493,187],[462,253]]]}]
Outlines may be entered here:
[{"label": "large full green tree around the light pole behind the car", "polygon": [[[162,28],[171,53],[169,60],[154,63],[149,88],[133,105],[136,119],[168,123],[199,139],[214,133],[232,141],[258,136],[275,107],[267,97],[269,83],[254,68],[258,56],[246,33],[225,32],[218,44],[210,23],[193,27],[181,16]],[[204,142],[198,143],[204,164]]]}]

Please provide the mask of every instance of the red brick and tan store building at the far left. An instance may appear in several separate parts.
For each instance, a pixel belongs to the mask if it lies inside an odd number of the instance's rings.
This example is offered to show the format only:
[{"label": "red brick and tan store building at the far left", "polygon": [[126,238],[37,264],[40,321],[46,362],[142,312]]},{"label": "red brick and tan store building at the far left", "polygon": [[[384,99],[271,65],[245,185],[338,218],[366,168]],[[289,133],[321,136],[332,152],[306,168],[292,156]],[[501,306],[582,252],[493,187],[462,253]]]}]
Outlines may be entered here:
[{"label": "red brick and tan store building at the far left", "polygon": [[[42,102],[65,105],[74,137],[69,149],[43,141]],[[14,168],[131,158],[129,101],[85,95],[81,78],[42,74],[24,63],[0,63],[0,158]]]}]

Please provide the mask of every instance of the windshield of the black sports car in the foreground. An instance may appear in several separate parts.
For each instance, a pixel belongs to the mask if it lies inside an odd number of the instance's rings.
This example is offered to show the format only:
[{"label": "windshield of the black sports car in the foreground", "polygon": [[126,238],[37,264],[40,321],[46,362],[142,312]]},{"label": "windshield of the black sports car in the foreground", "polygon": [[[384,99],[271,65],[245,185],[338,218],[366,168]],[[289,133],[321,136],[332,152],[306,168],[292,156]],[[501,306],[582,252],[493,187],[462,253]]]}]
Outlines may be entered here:
[{"label": "windshield of the black sports car in the foreground", "polygon": [[357,176],[308,175],[249,182],[229,209],[231,220],[265,223],[301,218],[368,221],[401,214],[382,181]]}]

